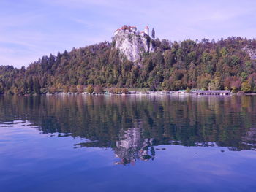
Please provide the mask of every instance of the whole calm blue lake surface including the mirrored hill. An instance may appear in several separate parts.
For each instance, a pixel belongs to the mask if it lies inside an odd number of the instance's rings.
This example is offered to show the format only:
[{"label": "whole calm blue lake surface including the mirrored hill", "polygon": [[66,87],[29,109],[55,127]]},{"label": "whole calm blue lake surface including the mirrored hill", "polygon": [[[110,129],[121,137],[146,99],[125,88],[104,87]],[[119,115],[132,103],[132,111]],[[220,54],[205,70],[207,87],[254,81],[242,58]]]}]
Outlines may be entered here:
[{"label": "whole calm blue lake surface including the mirrored hill", "polygon": [[256,191],[256,96],[0,96],[0,191]]}]

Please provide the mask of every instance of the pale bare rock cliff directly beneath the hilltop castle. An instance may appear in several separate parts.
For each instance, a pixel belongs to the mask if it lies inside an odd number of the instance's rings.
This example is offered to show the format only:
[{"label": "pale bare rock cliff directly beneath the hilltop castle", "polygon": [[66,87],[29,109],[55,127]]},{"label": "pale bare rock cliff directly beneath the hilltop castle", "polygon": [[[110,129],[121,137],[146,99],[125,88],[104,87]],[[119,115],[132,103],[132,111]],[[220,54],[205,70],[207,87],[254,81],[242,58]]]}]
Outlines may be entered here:
[{"label": "pale bare rock cliff directly beneath the hilltop castle", "polygon": [[129,30],[120,30],[113,40],[115,47],[127,56],[129,61],[140,61],[143,53],[154,52],[151,38],[145,33],[136,34]]}]

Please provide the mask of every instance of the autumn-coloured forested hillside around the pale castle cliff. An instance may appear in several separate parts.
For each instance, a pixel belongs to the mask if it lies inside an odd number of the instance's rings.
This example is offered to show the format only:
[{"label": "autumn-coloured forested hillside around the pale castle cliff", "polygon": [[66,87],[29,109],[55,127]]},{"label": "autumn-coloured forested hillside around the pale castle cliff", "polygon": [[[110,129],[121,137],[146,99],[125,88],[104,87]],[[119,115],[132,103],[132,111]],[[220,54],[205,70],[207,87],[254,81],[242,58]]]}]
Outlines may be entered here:
[{"label": "autumn-coloured forested hillside around the pale castle cliff", "polygon": [[151,41],[154,53],[143,53],[135,63],[121,55],[114,42],[102,42],[43,56],[27,69],[0,66],[0,93],[46,93],[87,85],[256,92],[255,39]]}]

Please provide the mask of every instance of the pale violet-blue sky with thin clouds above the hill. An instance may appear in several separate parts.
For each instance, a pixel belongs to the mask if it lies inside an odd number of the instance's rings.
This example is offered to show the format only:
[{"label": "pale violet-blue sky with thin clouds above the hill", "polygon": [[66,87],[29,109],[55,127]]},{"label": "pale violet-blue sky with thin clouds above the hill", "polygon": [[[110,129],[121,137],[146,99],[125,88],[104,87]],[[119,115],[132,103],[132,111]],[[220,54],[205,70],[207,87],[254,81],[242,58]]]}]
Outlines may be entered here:
[{"label": "pale violet-blue sky with thin clouds above the hill", "polygon": [[170,41],[256,37],[255,0],[0,0],[0,65],[111,41],[124,24]]}]

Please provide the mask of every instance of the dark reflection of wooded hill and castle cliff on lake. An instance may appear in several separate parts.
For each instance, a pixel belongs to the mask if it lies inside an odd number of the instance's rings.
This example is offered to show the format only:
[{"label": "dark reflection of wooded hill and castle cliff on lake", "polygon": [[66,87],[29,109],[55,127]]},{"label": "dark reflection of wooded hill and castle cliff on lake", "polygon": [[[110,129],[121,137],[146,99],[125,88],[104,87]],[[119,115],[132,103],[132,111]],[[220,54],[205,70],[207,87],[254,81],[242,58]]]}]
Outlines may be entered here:
[{"label": "dark reflection of wooded hill and castle cliff on lake", "polygon": [[[111,147],[120,161],[154,160],[157,145],[255,150],[255,96],[0,96],[0,121]],[[0,122],[0,123],[1,123]]]}]

